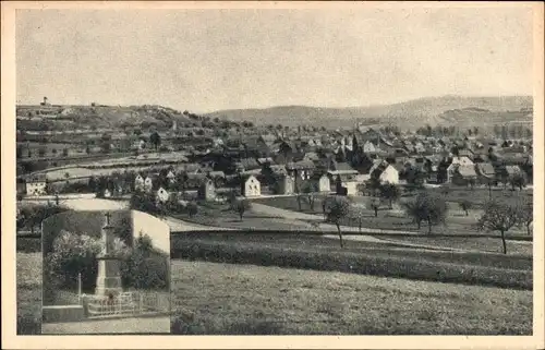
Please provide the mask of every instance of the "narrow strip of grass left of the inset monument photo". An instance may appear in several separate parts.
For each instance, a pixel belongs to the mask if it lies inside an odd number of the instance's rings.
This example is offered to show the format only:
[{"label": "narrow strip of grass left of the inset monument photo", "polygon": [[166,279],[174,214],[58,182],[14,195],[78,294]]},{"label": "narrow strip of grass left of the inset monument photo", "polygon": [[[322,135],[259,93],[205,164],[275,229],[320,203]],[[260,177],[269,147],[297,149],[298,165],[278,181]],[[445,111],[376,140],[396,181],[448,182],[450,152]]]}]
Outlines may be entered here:
[{"label": "narrow strip of grass left of the inset monument photo", "polygon": [[17,267],[17,335],[41,331],[41,253],[20,253]]}]

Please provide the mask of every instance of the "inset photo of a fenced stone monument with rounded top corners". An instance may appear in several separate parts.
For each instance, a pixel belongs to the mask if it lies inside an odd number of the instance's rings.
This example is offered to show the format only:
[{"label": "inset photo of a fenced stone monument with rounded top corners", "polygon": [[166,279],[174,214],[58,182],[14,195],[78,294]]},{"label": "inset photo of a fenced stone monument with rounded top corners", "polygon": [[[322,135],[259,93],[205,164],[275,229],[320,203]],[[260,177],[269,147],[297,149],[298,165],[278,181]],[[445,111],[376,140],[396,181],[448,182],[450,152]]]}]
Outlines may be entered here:
[{"label": "inset photo of a fenced stone monument with rounded top corners", "polygon": [[137,210],[44,220],[41,334],[169,334],[169,237]]}]

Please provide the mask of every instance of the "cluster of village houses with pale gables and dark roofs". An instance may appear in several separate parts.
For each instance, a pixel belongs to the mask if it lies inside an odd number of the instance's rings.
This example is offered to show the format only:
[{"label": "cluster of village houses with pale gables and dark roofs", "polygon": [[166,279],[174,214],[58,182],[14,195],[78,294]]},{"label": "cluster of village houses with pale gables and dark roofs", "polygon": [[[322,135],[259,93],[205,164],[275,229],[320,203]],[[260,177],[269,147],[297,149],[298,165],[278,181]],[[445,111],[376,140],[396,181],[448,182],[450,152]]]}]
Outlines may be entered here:
[{"label": "cluster of village houses with pale gables and dark roofs", "polygon": [[[400,135],[364,128],[291,137],[246,135],[216,140],[205,150],[189,152],[182,164],[133,173],[125,184],[116,180],[104,195],[154,192],[161,202],[180,191],[215,201],[233,189],[244,196],[302,191],[353,195],[370,180],[497,185],[516,174],[531,181],[531,141]],[[45,182],[27,178],[26,194],[44,193]]]}]

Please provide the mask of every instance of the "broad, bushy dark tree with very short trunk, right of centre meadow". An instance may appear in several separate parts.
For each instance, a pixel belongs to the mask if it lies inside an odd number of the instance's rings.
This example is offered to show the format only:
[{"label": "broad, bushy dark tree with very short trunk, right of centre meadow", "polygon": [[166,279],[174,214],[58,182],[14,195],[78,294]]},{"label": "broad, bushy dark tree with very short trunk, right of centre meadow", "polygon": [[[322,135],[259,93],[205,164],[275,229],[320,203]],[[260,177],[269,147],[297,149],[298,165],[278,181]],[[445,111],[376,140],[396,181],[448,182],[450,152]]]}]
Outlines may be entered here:
[{"label": "broad, bushy dark tree with very short trunk, right of centre meadow", "polygon": [[443,196],[431,195],[427,192],[420,193],[415,200],[404,204],[405,213],[421,228],[422,221],[427,221],[428,233],[432,233],[432,226],[445,224],[447,217],[447,202]]}]

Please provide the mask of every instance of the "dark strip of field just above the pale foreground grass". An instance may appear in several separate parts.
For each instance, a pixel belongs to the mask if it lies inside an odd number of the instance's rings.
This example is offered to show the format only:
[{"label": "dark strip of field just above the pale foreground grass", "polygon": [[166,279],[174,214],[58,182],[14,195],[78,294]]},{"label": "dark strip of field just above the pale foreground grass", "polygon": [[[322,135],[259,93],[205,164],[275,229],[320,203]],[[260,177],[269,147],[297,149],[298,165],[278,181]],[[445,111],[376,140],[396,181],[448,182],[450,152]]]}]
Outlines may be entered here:
[{"label": "dark strip of field just above the pale foreground grass", "polygon": [[532,257],[338,241],[318,234],[179,233],[171,257],[532,289]]}]

